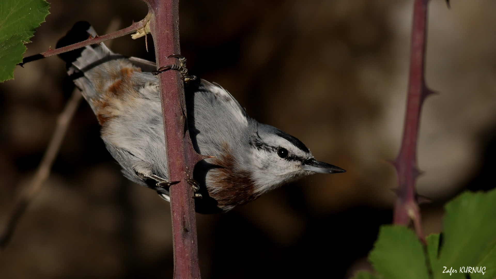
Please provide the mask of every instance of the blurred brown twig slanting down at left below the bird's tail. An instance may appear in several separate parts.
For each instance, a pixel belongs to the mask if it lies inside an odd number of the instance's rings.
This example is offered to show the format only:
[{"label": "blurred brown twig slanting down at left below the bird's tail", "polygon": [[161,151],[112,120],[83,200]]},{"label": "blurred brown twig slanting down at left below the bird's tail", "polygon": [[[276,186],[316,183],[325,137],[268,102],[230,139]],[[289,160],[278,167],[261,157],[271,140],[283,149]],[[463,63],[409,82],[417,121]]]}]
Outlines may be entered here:
[{"label": "blurred brown twig slanting down at left below the bird's tail", "polygon": [[52,135],[52,139],[48,145],[47,150],[45,150],[45,154],[36,170],[36,174],[31,180],[31,183],[28,184],[26,188],[24,188],[21,192],[21,195],[17,199],[17,202],[14,206],[14,209],[10,213],[7,224],[3,228],[3,231],[0,235],[0,249],[3,250],[10,242],[14,229],[24,213],[25,209],[33,199],[33,197],[40,191],[41,186],[47,180],[50,175],[50,170],[52,169],[52,165],[54,164],[54,160],[59,153],[62,141],[65,137],[65,133],[67,132],[67,127],[78,108],[79,102],[81,101],[81,92],[78,89],[74,89],[70,99],[65,104],[65,107],[62,113],[57,118],[57,126],[55,128],[54,134]]}]

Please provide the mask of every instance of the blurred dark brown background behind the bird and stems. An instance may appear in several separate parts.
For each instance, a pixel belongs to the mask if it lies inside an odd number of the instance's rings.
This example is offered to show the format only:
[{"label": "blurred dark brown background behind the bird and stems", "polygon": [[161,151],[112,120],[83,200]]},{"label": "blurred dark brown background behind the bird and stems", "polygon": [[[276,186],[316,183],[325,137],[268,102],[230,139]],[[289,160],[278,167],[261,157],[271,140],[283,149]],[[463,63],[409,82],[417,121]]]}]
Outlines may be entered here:
[{"label": "blurred dark brown background behind the bird and stems", "polygon": [[[201,273],[219,278],[348,278],[391,221],[412,0],[181,0],[191,74],[229,90],[259,122],[346,169],[313,175],[226,214],[197,215]],[[495,186],[496,2],[432,0],[419,146],[425,233],[465,189]],[[79,20],[103,34],[147,12],[140,0],[51,0],[26,56]],[[150,36],[148,36],[150,40]],[[149,41],[150,42],[150,41]],[[150,47],[152,44],[148,44]],[[144,38],[112,49],[154,60]],[[38,165],[70,95],[57,57],[0,84],[0,228]],[[81,104],[53,173],[0,255],[0,278],[172,278],[169,204],[124,179]]]}]

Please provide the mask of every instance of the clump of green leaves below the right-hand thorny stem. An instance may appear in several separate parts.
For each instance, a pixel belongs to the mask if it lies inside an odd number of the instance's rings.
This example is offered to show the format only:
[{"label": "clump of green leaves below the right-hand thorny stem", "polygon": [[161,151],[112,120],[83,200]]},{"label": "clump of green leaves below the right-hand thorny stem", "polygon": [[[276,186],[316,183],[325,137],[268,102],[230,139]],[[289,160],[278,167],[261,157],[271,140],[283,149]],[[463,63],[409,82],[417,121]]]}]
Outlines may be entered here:
[{"label": "clump of green leaves below the right-hand thorny stem", "polygon": [[440,234],[426,237],[429,263],[414,232],[400,226],[381,227],[369,259],[387,279],[428,278],[426,264],[436,279],[464,279],[468,267],[484,268],[484,275],[469,273],[472,279],[496,278],[496,189],[466,192],[446,204],[443,228],[442,239]]}]

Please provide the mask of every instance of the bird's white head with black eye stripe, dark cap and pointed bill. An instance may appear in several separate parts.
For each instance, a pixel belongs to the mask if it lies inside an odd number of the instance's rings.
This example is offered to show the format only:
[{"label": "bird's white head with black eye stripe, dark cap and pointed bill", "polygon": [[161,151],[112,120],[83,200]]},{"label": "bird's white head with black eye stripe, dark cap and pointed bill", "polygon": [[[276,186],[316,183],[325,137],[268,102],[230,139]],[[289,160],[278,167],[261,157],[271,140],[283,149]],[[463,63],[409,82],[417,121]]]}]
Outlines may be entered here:
[{"label": "bird's white head with black eye stripe, dark cap and pointed bill", "polygon": [[345,172],[315,160],[303,142],[269,125],[258,124],[249,142],[251,177],[262,193],[312,173]]}]

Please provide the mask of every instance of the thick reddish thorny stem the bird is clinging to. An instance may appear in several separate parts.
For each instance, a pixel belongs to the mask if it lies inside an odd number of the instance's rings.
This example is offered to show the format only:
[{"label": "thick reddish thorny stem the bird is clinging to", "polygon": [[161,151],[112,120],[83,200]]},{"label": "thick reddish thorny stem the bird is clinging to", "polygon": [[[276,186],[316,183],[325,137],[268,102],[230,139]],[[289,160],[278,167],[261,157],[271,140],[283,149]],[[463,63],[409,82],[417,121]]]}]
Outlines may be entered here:
[{"label": "thick reddish thorny stem the bird is clinging to", "polygon": [[[150,31],[155,44],[157,68],[178,64],[172,54],[180,54],[179,0],[145,0],[148,4]],[[159,74],[164,132],[171,186],[171,215],[174,249],[174,278],[199,279],[194,195],[186,181],[194,165],[205,156],[197,154],[187,132],[184,84],[179,71]]]}]

